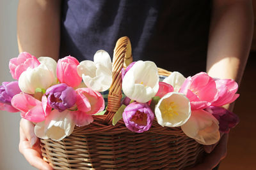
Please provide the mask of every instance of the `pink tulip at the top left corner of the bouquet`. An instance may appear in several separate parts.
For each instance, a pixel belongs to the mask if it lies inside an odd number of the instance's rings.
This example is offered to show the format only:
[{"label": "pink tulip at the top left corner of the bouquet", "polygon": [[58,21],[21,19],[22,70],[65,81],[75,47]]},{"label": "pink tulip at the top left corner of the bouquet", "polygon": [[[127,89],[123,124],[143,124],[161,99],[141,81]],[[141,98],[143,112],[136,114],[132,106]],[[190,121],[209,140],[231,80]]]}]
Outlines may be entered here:
[{"label": "pink tulip at the top left corner of the bouquet", "polygon": [[28,52],[20,53],[18,57],[10,59],[9,62],[10,72],[15,80],[19,80],[20,74],[26,71],[28,67],[33,69],[39,65],[39,60]]}]

